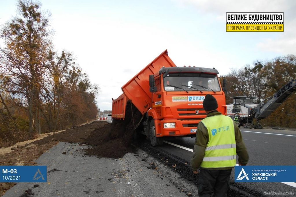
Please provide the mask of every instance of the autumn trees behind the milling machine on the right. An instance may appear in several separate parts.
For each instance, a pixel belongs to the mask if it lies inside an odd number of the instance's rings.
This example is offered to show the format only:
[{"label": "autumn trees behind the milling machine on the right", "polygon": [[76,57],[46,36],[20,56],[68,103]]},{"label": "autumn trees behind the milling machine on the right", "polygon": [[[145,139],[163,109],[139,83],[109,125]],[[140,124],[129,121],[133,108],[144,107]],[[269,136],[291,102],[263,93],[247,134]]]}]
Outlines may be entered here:
[{"label": "autumn trees behind the milling machine on the right", "polygon": [[[296,79],[296,56],[287,55],[271,61],[256,61],[252,66],[232,69],[226,76],[226,104],[231,97],[257,97],[256,103],[265,103],[281,87]],[[261,120],[263,126],[296,128],[296,92],[282,103],[271,115]]]}]

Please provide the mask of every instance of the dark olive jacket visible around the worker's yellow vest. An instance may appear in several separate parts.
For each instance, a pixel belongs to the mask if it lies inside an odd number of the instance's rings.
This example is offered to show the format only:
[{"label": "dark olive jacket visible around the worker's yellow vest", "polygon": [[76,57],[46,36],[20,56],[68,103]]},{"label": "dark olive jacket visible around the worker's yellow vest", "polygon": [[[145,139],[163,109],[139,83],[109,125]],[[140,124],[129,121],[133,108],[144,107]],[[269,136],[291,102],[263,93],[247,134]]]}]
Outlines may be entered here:
[{"label": "dark olive jacket visible around the worker's yellow vest", "polygon": [[[207,114],[207,117],[214,116],[214,115],[221,115],[218,111],[213,111]],[[235,143],[236,143],[236,152],[239,156],[238,162],[242,165],[246,165],[249,161],[249,155],[242,139],[242,133],[239,131],[237,123],[233,122],[234,124],[234,133],[235,133]],[[202,163],[202,160],[205,155],[205,149],[209,142],[209,133],[207,128],[204,124],[199,123],[197,126],[195,144],[194,144],[194,151],[193,157],[191,159],[191,167],[193,171],[197,171]],[[232,167],[223,167],[223,168],[207,168],[208,170],[227,170],[231,169]]]}]

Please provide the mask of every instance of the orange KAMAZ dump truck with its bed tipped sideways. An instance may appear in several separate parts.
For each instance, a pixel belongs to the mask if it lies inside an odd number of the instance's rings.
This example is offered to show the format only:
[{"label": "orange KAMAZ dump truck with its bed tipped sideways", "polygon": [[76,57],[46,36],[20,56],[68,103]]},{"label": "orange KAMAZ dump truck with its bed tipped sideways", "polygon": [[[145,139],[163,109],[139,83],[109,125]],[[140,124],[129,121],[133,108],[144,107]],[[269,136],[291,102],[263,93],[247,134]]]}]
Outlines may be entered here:
[{"label": "orange KAMAZ dump truck with its bed tipped sideways", "polygon": [[[226,81],[223,81],[223,87]],[[193,137],[197,124],[206,117],[202,102],[211,94],[218,111],[226,115],[225,89],[216,69],[177,67],[165,50],[122,87],[123,94],[112,99],[112,118],[124,119],[127,102],[142,113],[142,134],[153,146],[163,144],[165,136]]]}]

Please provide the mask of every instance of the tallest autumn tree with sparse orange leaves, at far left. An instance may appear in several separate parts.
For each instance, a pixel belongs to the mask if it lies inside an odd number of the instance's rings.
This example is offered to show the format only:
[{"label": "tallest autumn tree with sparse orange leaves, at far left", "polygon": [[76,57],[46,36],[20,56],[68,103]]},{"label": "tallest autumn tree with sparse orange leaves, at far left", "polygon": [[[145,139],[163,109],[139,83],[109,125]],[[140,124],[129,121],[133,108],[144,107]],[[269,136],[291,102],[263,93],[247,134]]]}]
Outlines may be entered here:
[{"label": "tallest autumn tree with sparse orange leaves, at far left", "polygon": [[18,1],[18,16],[1,32],[5,47],[1,51],[1,71],[7,84],[5,92],[24,99],[29,114],[29,133],[33,126],[40,132],[40,83],[44,74],[45,54],[51,45],[49,15],[42,14],[40,4]]}]

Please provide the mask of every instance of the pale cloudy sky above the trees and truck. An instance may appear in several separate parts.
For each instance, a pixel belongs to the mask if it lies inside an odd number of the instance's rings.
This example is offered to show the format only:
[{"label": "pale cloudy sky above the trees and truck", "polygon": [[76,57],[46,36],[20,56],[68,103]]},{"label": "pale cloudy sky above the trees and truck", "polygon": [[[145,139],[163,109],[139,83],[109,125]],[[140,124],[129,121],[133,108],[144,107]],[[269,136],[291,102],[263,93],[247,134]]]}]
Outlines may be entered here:
[{"label": "pale cloudy sky above the trees and truck", "polygon": [[[0,0],[0,25],[17,1]],[[294,0],[42,0],[52,14],[58,51],[73,52],[111,110],[121,87],[168,49],[177,66],[215,67],[220,74],[255,60],[296,54]],[[284,12],[284,32],[226,32],[226,12]]]}]

